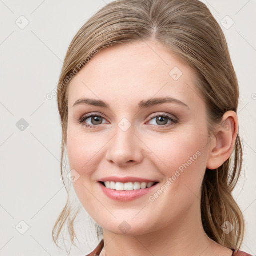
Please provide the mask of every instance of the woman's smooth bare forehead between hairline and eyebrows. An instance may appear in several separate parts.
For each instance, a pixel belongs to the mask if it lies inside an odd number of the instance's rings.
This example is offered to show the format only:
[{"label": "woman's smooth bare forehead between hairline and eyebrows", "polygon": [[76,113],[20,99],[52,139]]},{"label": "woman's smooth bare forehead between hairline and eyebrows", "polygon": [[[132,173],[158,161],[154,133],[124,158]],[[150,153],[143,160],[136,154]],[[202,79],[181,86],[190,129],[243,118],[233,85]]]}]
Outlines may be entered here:
[{"label": "woman's smooth bare forehead between hairline and eyebrows", "polygon": [[81,97],[109,104],[136,104],[152,97],[200,100],[193,70],[155,41],[120,44],[99,51],[70,81],[68,105]]}]

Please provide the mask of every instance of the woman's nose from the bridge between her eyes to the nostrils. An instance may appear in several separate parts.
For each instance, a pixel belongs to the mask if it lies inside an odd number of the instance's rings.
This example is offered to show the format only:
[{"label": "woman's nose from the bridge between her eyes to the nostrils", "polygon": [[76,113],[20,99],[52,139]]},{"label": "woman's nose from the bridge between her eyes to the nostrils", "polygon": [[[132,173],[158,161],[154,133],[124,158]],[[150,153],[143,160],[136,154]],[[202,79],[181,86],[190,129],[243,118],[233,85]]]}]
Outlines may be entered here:
[{"label": "woman's nose from the bridge between her eyes to the nostrils", "polygon": [[116,125],[115,135],[107,149],[107,159],[116,164],[142,159],[141,143],[134,133],[136,127],[127,118],[122,118]]}]

